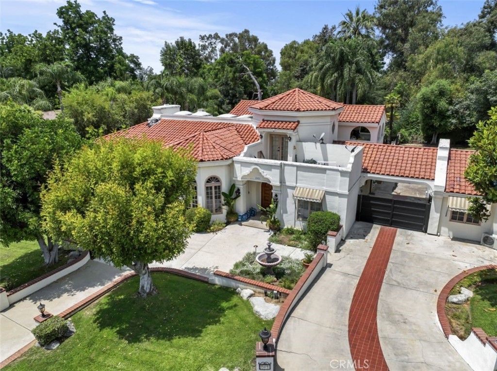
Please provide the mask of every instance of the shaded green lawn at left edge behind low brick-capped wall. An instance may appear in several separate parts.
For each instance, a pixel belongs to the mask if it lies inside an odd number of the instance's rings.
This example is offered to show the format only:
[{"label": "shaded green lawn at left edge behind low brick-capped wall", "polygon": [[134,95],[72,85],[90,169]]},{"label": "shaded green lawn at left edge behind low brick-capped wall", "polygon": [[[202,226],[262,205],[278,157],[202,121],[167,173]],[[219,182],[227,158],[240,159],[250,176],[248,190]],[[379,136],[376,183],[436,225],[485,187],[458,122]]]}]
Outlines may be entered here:
[{"label": "shaded green lawn at left edge behind low brick-capped wall", "polygon": [[59,251],[59,262],[49,267],[44,265],[41,249],[35,241],[22,241],[0,245],[0,284],[11,290],[67,263],[67,257]]}]

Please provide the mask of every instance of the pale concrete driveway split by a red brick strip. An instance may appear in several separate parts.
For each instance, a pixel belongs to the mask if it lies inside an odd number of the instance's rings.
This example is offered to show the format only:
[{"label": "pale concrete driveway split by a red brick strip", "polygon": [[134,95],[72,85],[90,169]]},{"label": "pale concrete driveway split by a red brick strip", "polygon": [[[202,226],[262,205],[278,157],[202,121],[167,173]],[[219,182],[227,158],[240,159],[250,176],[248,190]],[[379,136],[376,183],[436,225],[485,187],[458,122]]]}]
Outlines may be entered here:
[{"label": "pale concrete driveway split by a red brick strip", "polygon": [[[353,370],[349,308],[379,227],[356,222],[341,251],[311,286],[283,327],[280,370]],[[378,301],[380,344],[392,371],[471,370],[435,319],[438,292],[464,269],[495,263],[497,251],[399,229]],[[435,291],[436,290],[436,291]]]}]

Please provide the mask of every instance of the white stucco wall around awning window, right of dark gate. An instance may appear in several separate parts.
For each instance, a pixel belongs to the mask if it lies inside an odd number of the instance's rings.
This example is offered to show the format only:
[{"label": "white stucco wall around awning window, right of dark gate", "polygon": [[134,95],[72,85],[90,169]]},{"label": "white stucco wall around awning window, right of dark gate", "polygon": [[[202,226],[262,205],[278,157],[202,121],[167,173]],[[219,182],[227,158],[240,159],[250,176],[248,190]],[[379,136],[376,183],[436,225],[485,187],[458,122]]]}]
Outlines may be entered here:
[{"label": "white stucco wall around awning window, right of dark gate", "polygon": [[482,234],[493,233],[494,219],[497,212],[497,205],[493,204],[491,208],[491,217],[486,222],[481,224],[465,224],[460,222],[453,222],[450,220],[450,210],[447,208],[449,197],[445,196],[442,199],[442,207],[440,213],[439,233],[441,236],[448,236],[450,238],[460,238],[466,240],[473,240],[480,242]]}]

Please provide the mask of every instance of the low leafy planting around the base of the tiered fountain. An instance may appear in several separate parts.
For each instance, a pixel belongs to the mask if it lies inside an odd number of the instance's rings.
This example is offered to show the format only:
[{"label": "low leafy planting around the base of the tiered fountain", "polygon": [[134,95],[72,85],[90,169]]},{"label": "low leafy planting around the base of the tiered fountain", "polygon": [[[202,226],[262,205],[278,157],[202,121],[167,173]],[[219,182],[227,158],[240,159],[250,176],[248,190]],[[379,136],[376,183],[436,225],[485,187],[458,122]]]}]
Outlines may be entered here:
[{"label": "low leafy planting around the base of the tiered fountain", "polygon": [[265,268],[255,261],[255,256],[255,252],[246,253],[242,260],[233,265],[230,273],[291,290],[306,270],[301,260],[282,256],[281,263],[273,267],[274,276],[265,276]]}]

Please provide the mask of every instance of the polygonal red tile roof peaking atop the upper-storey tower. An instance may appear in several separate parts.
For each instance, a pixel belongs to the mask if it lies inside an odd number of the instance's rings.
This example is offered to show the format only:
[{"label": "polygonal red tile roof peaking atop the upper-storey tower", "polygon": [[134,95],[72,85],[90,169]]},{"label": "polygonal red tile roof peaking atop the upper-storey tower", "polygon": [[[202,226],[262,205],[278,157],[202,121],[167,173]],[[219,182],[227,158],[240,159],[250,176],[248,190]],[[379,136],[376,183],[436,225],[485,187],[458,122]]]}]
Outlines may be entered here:
[{"label": "polygonal red tile roof peaking atop the upper-storey tower", "polygon": [[335,111],[342,107],[343,105],[339,103],[299,88],[289,90],[285,93],[275,95],[274,97],[250,105],[250,108],[264,111],[294,112]]}]

